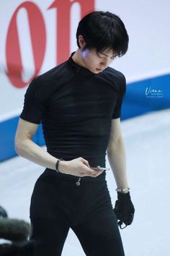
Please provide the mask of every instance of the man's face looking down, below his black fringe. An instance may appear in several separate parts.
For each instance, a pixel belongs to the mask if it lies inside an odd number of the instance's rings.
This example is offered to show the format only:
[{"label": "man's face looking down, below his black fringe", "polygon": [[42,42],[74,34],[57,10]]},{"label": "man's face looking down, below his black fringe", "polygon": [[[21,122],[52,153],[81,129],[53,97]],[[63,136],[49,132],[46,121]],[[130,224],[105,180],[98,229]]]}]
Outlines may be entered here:
[{"label": "man's face looking down, below his black fringe", "polygon": [[95,49],[87,48],[84,51],[81,51],[81,57],[84,63],[84,67],[89,69],[94,74],[102,72],[115,59],[112,50],[105,50],[99,53]]}]

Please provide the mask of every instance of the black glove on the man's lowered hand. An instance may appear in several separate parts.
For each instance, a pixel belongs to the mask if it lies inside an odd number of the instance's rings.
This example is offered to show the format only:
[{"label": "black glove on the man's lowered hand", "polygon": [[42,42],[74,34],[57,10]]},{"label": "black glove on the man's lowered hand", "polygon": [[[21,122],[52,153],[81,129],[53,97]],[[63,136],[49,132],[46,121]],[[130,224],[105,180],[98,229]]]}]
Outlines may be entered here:
[{"label": "black glove on the man's lowered hand", "polygon": [[118,225],[125,223],[126,226],[133,222],[135,208],[133,202],[130,200],[130,192],[123,194],[117,192],[117,201],[115,202],[115,215],[117,217]]}]

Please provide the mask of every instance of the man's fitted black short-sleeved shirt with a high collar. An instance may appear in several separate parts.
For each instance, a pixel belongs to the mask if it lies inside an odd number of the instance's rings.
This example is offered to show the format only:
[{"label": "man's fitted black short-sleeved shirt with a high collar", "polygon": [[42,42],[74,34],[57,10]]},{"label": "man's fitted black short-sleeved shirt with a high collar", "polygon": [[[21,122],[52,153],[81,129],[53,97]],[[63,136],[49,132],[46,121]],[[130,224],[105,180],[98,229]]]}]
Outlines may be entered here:
[{"label": "man's fitted black short-sleeved shirt with a high collar", "polygon": [[125,77],[111,67],[94,74],[72,57],[32,80],[21,118],[42,122],[48,153],[105,166],[112,119],[120,117]]}]

